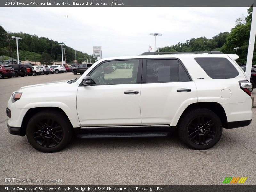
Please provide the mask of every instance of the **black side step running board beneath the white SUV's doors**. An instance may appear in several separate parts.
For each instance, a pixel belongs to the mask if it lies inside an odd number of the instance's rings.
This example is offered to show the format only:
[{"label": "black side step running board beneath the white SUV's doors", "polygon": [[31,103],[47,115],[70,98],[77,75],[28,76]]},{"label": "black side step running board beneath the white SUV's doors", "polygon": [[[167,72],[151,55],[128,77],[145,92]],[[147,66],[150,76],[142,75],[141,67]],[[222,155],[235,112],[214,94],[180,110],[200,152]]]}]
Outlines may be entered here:
[{"label": "black side step running board beneath the white SUV's doors", "polygon": [[113,132],[113,133],[83,133],[77,137],[84,138],[113,138],[113,137],[166,137],[170,132]]}]

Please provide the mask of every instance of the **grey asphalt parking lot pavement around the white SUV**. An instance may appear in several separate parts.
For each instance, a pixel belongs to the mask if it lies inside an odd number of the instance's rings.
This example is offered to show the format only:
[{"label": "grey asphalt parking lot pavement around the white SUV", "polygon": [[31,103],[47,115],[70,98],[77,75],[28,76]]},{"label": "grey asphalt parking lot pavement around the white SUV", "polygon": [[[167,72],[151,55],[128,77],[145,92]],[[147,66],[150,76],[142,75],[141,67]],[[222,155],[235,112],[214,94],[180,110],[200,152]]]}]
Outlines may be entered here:
[{"label": "grey asphalt parking lot pavement around the white SUV", "polygon": [[[0,79],[0,185],[5,178],[39,179],[34,185],[221,185],[225,177],[248,177],[256,184],[256,109],[251,125],[223,129],[219,143],[197,151],[170,138],[73,140],[57,153],[41,153],[26,137],[7,131],[5,114],[12,92],[25,85],[74,79],[72,73]],[[47,91],[47,90],[45,90]],[[8,181],[8,179],[7,179]]]}]

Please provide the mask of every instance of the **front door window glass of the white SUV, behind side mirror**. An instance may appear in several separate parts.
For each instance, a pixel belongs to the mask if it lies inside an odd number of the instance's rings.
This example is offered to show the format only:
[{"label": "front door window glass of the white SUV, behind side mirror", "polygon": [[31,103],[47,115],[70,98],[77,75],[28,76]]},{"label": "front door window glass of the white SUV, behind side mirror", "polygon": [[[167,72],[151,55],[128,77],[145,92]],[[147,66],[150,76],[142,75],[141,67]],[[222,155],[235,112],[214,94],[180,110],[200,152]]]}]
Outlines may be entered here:
[{"label": "front door window glass of the white SUV, behind side mirror", "polygon": [[102,63],[92,73],[92,85],[135,84],[139,60],[109,61]]}]

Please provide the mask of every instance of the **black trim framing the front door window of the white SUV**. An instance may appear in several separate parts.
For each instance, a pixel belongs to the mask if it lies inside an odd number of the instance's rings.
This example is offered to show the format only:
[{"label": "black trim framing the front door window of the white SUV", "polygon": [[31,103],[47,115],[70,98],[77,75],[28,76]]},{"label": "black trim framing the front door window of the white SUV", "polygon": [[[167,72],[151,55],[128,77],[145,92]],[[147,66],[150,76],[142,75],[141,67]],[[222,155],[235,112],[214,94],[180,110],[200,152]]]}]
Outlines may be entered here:
[{"label": "black trim framing the front door window of the white SUV", "polygon": [[[101,64],[106,63],[106,62],[111,62],[111,61],[133,61],[133,60],[138,60],[139,61],[139,66],[138,66],[138,74],[137,74],[137,81],[136,83],[131,83],[131,84],[139,84],[141,83],[141,76],[142,76],[142,58],[133,58],[133,59],[111,59],[111,60],[105,60],[100,62],[98,65],[96,65],[92,71],[90,71],[87,75],[90,76],[91,73],[98,68]],[[126,84],[105,84],[105,85],[126,85]],[[79,86],[84,86],[83,82],[80,83]],[[91,86],[102,86],[102,85],[91,85]]]}]

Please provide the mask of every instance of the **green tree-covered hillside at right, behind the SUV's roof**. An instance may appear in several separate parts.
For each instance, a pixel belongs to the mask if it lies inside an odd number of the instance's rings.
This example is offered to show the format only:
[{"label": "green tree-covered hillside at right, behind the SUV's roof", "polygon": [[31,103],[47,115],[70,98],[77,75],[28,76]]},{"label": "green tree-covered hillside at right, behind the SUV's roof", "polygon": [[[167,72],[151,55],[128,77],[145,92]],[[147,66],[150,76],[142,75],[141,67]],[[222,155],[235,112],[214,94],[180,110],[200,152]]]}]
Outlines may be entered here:
[{"label": "green tree-covered hillside at right, behind the SUV's roof", "polygon": [[[237,63],[246,63],[249,36],[252,22],[252,7],[247,10],[248,16],[236,19],[235,28],[231,32],[222,32],[207,39],[206,37],[192,38],[187,40],[186,43],[178,43],[176,45],[167,46],[159,49],[159,52],[176,52],[176,51],[221,51],[226,54],[234,54],[235,47],[237,49]],[[255,50],[256,46],[254,46]],[[253,54],[252,64],[256,65],[256,52]]]}]

